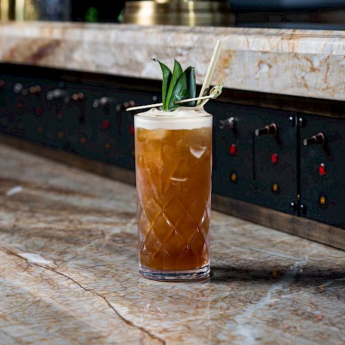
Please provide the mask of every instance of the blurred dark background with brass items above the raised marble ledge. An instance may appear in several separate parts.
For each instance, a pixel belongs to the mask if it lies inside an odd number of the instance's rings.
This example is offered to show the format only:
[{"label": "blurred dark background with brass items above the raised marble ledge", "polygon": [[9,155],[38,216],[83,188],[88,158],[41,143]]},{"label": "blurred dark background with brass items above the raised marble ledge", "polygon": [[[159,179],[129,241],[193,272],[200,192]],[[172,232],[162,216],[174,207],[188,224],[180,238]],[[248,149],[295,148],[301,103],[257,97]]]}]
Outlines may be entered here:
[{"label": "blurred dark background with brass items above the raised marble ledge", "polygon": [[344,30],[344,0],[1,0],[0,18]]}]

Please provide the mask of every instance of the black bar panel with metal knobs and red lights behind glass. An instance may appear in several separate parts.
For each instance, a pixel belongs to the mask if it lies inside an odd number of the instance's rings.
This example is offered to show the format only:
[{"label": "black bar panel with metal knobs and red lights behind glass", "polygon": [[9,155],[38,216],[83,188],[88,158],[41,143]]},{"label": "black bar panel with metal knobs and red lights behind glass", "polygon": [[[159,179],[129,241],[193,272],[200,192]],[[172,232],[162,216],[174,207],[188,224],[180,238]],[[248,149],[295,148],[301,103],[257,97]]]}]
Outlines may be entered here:
[{"label": "black bar panel with metal knobs and red lights behind glass", "polygon": [[[135,113],[126,108],[159,102],[160,83],[112,78],[0,65],[0,132],[134,170]],[[214,115],[213,193],[344,229],[341,111],[243,103],[223,97],[206,106]]]}]

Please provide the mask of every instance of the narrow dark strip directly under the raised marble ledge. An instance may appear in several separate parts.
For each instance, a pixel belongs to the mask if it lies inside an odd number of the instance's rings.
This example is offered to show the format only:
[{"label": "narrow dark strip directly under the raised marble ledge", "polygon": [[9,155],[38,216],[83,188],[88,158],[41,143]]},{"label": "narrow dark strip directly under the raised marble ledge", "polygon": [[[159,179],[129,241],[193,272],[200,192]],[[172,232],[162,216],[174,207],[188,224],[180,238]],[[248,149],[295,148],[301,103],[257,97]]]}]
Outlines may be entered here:
[{"label": "narrow dark strip directly under the raised marble ledge", "polygon": [[[102,85],[103,87],[121,85],[121,88],[132,90],[148,90],[161,93],[161,81],[104,75],[101,73],[80,72],[73,70],[60,70],[57,68],[43,68],[39,66],[25,66],[12,63],[0,63],[0,71],[12,75],[30,75],[31,77],[60,78],[64,81],[73,81]],[[197,86],[198,90],[201,86]],[[199,93],[199,92],[197,92]],[[290,95],[277,95],[267,92],[255,92],[237,89],[224,89],[217,101],[225,103],[242,104],[263,108],[289,110],[306,114],[322,115],[326,117],[344,118],[344,101],[330,99],[317,99],[312,97],[298,97]]]}]

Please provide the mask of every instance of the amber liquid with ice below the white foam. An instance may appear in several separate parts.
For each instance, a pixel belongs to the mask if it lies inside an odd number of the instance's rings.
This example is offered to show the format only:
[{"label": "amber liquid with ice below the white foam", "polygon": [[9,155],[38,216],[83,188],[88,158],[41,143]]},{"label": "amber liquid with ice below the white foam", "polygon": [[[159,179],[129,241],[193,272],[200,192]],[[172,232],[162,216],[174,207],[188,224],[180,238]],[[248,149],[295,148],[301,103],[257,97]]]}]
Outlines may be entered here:
[{"label": "amber liquid with ice below the white foam", "polygon": [[139,262],[157,270],[210,259],[212,128],[136,128]]}]

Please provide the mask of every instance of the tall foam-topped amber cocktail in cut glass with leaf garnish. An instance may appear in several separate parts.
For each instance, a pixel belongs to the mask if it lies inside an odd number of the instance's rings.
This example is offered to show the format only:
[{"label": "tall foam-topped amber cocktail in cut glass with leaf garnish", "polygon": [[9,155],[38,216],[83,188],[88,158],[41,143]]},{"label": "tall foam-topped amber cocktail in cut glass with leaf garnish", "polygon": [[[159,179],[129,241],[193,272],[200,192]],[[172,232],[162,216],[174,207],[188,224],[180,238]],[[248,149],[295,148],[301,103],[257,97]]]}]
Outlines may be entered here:
[{"label": "tall foam-topped amber cocktail in cut glass with leaf garnish", "polygon": [[[161,68],[164,73],[167,67]],[[183,92],[174,92],[179,83]],[[135,115],[139,272],[144,277],[176,281],[210,275],[213,117],[195,100],[219,92],[195,98],[194,68],[182,72],[175,61],[164,102],[150,105],[163,105],[163,110]]]}]

